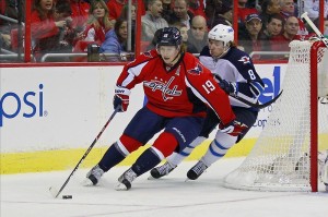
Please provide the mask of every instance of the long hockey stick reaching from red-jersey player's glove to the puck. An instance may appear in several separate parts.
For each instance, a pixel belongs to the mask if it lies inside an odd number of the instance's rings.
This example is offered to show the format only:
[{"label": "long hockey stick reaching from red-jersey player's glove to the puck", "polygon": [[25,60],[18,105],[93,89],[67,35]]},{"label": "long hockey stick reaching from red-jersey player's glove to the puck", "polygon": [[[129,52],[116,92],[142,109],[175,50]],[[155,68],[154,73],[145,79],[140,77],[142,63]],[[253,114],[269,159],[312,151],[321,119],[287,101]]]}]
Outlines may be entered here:
[{"label": "long hockey stick reaching from red-jersey player's glove to the puck", "polygon": [[112,113],[112,116],[109,117],[109,119],[107,120],[107,122],[105,123],[105,125],[103,126],[103,129],[101,130],[101,132],[94,138],[94,141],[92,142],[92,144],[90,145],[90,147],[87,148],[87,150],[84,153],[84,155],[82,156],[82,158],[80,159],[80,161],[78,162],[78,165],[75,166],[75,168],[73,169],[73,171],[70,173],[70,176],[67,178],[67,180],[65,181],[65,183],[60,188],[60,190],[57,192],[57,190],[55,188],[50,186],[49,191],[50,191],[51,195],[55,198],[57,198],[58,195],[62,192],[62,190],[65,189],[65,186],[68,184],[68,182],[70,181],[70,179],[74,174],[74,172],[78,170],[78,168],[81,165],[81,162],[86,158],[86,156],[89,155],[89,153],[91,152],[91,149],[93,148],[93,146],[96,144],[96,142],[99,140],[99,137],[102,136],[103,132],[105,131],[105,129],[107,128],[107,125],[109,124],[109,122],[112,121],[112,119],[115,117],[115,114],[118,112],[119,109],[120,108],[117,107],[115,109],[115,111]]}]

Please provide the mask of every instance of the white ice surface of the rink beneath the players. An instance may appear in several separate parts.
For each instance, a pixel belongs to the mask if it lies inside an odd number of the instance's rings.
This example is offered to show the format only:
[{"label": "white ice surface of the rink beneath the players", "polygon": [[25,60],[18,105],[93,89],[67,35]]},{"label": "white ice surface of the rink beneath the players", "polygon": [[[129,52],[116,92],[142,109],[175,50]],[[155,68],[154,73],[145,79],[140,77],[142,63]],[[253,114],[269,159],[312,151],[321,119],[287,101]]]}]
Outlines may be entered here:
[{"label": "white ice surface of the rink beneath the players", "polygon": [[97,216],[233,216],[233,217],[327,217],[328,193],[255,192],[231,190],[223,178],[243,158],[215,162],[197,181],[187,181],[186,172],[196,161],[183,162],[168,177],[148,180],[139,177],[129,191],[116,191],[117,178],[127,169],[120,166],[105,173],[99,185],[81,182],[86,169],[79,169],[61,195],[54,198],[49,186],[60,188],[71,170],[1,176],[1,217],[97,217]]}]

